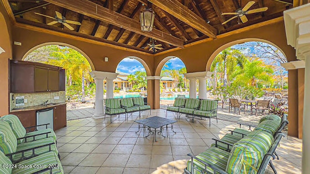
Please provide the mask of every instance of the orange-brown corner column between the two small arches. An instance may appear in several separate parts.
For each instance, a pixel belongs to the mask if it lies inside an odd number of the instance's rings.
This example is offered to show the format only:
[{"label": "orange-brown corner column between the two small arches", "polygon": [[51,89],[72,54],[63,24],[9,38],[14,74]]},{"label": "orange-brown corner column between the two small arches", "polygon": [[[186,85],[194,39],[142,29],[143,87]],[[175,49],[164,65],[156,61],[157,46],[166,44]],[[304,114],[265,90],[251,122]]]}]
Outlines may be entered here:
[{"label": "orange-brown corner column between the two small arches", "polygon": [[161,76],[147,76],[147,102],[151,109],[160,109],[160,79]]}]

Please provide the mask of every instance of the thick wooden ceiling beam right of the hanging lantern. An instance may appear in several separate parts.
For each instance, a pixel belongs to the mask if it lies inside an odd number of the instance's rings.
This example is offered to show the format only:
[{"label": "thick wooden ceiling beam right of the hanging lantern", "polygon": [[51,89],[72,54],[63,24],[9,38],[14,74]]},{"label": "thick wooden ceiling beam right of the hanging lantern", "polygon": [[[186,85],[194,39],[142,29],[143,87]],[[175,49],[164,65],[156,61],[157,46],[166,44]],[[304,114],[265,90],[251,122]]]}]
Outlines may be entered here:
[{"label": "thick wooden ceiling beam right of the hanging lantern", "polygon": [[148,0],[157,7],[168,12],[189,26],[199,30],[203,34],[215,39],[217,38],[217,29],[209,25],[197,14],[189,10],[178,0]]}]

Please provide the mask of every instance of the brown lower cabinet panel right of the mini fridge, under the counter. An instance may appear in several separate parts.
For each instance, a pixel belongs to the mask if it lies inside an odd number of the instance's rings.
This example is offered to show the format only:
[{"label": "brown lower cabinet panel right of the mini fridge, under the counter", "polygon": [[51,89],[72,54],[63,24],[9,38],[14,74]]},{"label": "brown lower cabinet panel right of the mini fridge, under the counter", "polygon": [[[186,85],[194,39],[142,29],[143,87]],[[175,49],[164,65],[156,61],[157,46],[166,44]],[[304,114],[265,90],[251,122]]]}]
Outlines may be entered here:
[{"label": "brown lower cabinet panel right of the mini fridge, under the counter", "polygon": [[67,126],[66,105],[54,106],[54,130]]}]

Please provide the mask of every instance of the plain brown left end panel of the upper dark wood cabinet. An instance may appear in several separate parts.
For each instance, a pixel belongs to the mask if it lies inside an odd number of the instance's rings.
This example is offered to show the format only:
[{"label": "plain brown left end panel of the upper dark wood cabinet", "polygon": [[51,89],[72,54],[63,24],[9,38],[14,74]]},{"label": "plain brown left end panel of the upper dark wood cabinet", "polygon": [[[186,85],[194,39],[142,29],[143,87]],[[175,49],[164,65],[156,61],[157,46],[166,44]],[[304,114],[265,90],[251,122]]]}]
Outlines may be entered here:
[{"label": "plain brown left end panel of the upper dark wood cabinet", "polygon": [[34,66],[11,64],[10,91],[15,93],[34,92]]}]

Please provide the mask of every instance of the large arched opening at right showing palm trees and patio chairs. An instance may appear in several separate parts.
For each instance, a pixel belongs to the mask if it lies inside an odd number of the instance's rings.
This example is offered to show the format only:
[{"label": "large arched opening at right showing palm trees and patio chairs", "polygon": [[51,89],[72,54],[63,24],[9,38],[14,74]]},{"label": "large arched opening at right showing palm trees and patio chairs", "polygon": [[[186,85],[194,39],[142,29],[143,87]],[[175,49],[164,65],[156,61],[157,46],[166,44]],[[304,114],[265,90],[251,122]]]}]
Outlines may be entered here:
[{"label": "large arched opening at right showing palm trees and patio chairs", "polygon": [[288,72],[280,65],[287,62],[283,52],[269,42],[258,41],[228,43],[221,48],[206,67],[214,72],[209,88],[211,97],[222,103],[219,113],[227,114],[236,102],[239,105],[233,108],[244,109],[245,116],[253,113],[263,116],[264,111],[287,114]]}]

